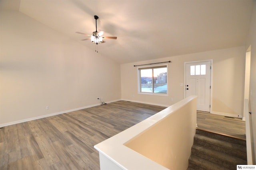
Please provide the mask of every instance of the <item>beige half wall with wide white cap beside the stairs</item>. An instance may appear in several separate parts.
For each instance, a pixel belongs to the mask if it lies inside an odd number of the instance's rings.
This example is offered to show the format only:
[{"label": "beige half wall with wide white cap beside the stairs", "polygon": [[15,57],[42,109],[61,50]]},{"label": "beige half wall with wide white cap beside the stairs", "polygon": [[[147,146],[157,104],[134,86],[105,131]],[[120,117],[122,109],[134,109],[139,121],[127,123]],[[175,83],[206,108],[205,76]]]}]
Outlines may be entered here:
[{"label": "beige half wall with wide white cap beside the stairs", "polygon": [[196,96],[189,96],[94,148],[101,170],[186,170],[195,133]]}]

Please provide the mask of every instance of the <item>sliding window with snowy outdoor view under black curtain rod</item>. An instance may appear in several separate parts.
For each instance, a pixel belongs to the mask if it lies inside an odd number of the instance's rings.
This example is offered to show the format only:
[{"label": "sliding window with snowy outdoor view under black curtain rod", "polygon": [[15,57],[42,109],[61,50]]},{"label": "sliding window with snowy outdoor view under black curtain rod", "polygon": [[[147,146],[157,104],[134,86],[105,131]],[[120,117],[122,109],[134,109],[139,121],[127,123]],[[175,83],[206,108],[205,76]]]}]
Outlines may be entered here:
[{"label": "sliding window with snowy outdoor view under black curtain rod", "polygon": [[167,94],[167,65],[138,68],[139,92]]}]

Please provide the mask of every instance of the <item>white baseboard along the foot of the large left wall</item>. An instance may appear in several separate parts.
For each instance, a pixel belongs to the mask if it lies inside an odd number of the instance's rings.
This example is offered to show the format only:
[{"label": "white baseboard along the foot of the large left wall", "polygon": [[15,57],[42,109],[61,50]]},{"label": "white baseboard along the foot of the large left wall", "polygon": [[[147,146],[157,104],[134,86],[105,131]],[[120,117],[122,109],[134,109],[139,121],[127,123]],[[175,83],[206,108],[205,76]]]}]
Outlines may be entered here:
[{"label": "white baseboard along the foot of the large left wall", "polygon": [[[108,102],[105,102],[105,103],[112,103],[112,102],[116,102],[116,101],[119,101],[119,100],[121,100],[121,99],[112,100],[112,101],[108,101]],[[63,114],[63,113],[68,113],[68,112],[74,112],[74,111],[76,111],[76,110],[82,110],[82,109],[85,109],[85,108],[90,108],[90,107],[99,106],[99,105],[100,105],[100,104],[93,104],[93,105],[90,105],[90,106],[84,106],[84,107],[80,107],[80,108],[74,108],[74,109],[70,109],[70,110],[65,110],[65,111],[62,111],[62,112],[46,114],[46,115],[37,116],[37,117],[34,117],[34,118],[28,118],[28,119],[23,119],[23,120],[17,120],[17,121],[14,121],[14,122],[8,122],[8,123],[0,124],[0,128],[2,128],[2,127],[4,127],[4,126],[10,126],[10,125],[13,125],[13,124],[28,122],[28,121],[31,121],[31,120],[36,120],[36,119],[41,119],[41,118],[47,118],[47,117],[55,116],[55,115],[58,115],[58,114]]]}]

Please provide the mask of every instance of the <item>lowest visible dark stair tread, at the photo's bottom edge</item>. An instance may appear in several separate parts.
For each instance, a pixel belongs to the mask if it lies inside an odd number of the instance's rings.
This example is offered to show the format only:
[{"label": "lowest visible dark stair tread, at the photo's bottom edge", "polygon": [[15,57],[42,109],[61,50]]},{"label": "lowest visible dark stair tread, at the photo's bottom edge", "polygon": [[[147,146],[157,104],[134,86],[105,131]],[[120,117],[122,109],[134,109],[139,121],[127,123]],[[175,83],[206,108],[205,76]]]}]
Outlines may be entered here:
[{"label": "lowest visible dark stair tread, at the photo's bottom edge", "polygon": [[[199,166],[200,169],[207,169],[207,170],[228,170],[226,167],[220,166],[218,164],[215,164],[213,162],[210,162],[208,160],[205,160],[203,158],[200,158],[198,156],[191,155],[189,158],[190,165],[188,168],[194,168],[191,167],[191,164],[194,164],[196,166]],[[195,168],[194,168],[195,169]],[[199,168],[196,168],[199,169]]]}]

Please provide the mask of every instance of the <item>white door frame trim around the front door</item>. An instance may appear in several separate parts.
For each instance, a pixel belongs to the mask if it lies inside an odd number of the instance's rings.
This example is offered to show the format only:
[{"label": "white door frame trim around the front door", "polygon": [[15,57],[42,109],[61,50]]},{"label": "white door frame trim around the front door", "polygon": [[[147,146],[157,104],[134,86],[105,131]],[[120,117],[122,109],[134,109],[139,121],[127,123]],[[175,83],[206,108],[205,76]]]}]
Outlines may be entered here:
[{"label": "white door frame trim around the front door", "polygon": [[198,60],[198,61],[190,61],[190,62],[184,62],[184,98],[186,98],[186,64],[188,63],[196,63],[196,62],[211,62],[211,90],[210,90],[210,113],[212,113],[212,89],[213,89],[213,60]]}]

